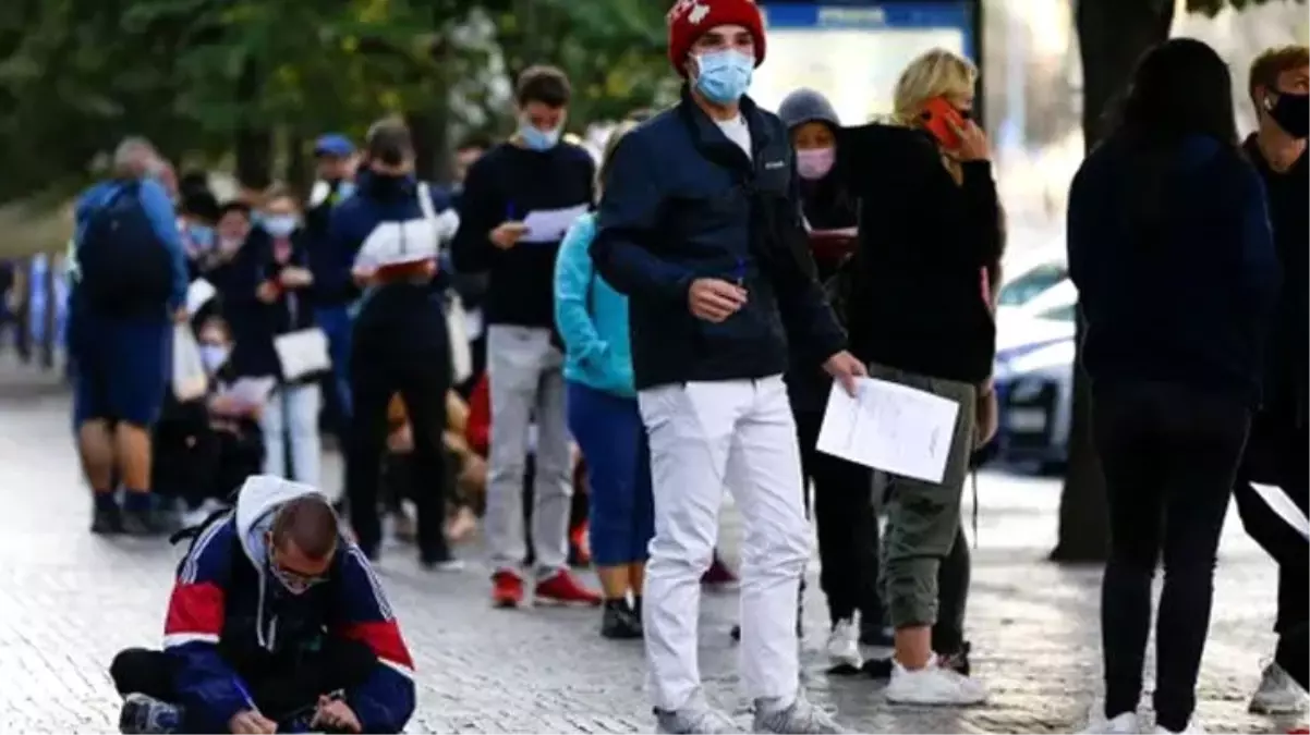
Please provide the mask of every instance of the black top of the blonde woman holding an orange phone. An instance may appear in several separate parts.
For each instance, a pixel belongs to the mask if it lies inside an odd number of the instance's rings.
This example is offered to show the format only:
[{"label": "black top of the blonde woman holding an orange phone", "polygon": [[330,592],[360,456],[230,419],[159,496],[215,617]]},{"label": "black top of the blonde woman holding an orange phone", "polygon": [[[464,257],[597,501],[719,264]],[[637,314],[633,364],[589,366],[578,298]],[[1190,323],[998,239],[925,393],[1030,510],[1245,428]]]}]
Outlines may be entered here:
[{"label": "black top of the blonde woman holding an orange phone", "polygon": [[924,132],[870,124],[837,143],[858,196],[859,246],[846,328],[862,360],[977,383],[992,374],[996,323],[982,271],[1001,258],[1001,211],[985,161],[963,184]]}]

